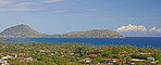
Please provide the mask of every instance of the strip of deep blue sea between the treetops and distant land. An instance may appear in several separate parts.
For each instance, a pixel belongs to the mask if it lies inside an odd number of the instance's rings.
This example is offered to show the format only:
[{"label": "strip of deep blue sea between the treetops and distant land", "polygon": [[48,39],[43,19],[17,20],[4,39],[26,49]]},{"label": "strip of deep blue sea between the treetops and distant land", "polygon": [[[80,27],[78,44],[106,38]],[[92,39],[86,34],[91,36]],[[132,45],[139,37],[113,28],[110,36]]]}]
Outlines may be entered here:
[{"label": "strip of deep blue sea between the treetops and distant land", "polygon": [[41,42],[41,43],[60,43],[60,42],[77,42],[98,44],[131,44],[131,46],[151,46],[161,48],[161,37],[126,37],[126,38],[7,38],[8,40],[0,40],[0,42]]}]

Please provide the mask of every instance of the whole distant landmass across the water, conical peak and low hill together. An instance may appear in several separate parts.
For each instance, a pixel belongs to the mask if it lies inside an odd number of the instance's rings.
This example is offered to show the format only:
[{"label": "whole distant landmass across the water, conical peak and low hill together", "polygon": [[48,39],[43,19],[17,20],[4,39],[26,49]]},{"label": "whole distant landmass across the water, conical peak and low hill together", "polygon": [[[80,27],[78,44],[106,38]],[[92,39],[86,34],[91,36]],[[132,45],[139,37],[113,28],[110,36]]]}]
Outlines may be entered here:
[{"label": "whole distant landmass across the water, conical peak and low hill together", "polygon": [[94,29],[87,31],[74,31],[61,35],[46,35],[36,31],[27,25],[21,24],[7,28],[0,32],[0,37],[4,38],[124,38],[115,30]]}]

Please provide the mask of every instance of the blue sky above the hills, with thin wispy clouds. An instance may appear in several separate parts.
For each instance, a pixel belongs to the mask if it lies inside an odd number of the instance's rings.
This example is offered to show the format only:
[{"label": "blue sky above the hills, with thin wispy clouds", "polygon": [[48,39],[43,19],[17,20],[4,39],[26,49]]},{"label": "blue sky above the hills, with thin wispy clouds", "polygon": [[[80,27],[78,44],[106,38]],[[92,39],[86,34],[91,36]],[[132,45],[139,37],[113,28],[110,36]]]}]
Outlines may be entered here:
[{"label": "blue sky above the hills, with thin wispy clouds", "polygon": [[161,0],[0,0],[0,31],[20,24],[48,35],[129,24],[160,31]]}]

